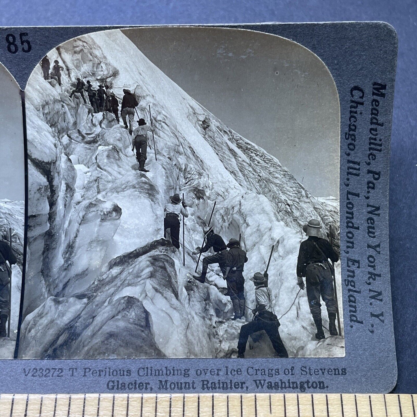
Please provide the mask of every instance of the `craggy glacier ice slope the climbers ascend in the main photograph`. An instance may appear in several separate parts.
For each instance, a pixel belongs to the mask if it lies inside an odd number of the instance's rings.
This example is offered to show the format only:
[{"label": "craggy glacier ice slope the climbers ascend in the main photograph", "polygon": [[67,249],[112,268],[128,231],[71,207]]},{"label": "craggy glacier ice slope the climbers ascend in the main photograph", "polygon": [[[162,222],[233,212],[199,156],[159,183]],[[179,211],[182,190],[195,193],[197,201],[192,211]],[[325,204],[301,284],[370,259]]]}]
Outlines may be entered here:
[{"label": "craggy glacier ice slope the climbers ascend in the main photograph", "polygon": [[[239,328],[232,322],[224,281],[191,278],[196,259],[163,239],[163,207],[185,194],[185,246],[201,245],[202,227],[216,201],[214,229],[242,235],[246,300],[249,277],[263,271],[271,245],[269,285],[276,314],[297,294],[296,257],[301,226],[310,218],[335,227],[337,210],[314,200],[286,168],[231,131],[155,67],[120,31],[70,40],[50,59],[65,66],[62,89],[36,68],[26,88],[29,157],[29,246],[22,324],[22,358],[231,357]],[[130,88],[141,99],[156,148],[146,175],[135,170],[130,137],[110,113],[92,114],[68,76]],[[148,122],[149,123],[149,122]],[[216,268],[216,272],[219,269]],[[340,294],[340,291],[339,291]],[[281,319],[290,356],[343,356],[343,344],[313,339],[305,291]],[[251,319],[249,310],[246,318]],[[324,323],[326,324],[326,322]],[[248,356],[269,356],[265,335]]]}]

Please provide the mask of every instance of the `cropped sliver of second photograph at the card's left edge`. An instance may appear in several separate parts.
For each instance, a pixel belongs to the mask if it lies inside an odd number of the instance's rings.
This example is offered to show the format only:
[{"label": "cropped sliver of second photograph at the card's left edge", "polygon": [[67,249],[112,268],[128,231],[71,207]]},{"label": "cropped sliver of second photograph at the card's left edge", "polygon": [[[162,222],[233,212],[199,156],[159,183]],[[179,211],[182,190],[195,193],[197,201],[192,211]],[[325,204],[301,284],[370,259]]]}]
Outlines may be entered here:
[{"label": "cropped sliver of second photograph at the card's left edge", "polygon": [[0,90],[0,359],[13,359],[23,271],[25,153],[20,88],[2,64]]}]

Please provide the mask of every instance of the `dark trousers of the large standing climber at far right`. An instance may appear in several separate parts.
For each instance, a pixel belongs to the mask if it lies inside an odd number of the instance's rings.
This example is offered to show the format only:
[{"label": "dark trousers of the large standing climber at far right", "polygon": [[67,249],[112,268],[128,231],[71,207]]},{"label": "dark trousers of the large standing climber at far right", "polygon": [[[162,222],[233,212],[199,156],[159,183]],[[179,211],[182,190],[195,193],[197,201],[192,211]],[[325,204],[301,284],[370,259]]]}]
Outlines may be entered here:
[{"label": "dark trousers of the large standing climber at far right", "polygon": [[322,318],[320,296],[326,303],[327,313],[336,315],[333,276],[329,264],[309,264],[306,269],[307,299],[313,319]]}]

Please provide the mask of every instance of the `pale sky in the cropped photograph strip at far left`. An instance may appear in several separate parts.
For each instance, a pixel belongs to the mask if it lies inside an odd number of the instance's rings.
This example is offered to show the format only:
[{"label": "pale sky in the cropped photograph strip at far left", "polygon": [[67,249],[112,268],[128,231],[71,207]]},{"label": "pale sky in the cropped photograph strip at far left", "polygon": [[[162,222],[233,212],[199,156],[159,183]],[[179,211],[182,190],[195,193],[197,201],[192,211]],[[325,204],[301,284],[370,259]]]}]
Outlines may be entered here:
[{"label": "pale sky in the cropped photograph strip at far left", "polygon": [[25,199],[25,163],[20,88],[0,64],[0,199]]}]

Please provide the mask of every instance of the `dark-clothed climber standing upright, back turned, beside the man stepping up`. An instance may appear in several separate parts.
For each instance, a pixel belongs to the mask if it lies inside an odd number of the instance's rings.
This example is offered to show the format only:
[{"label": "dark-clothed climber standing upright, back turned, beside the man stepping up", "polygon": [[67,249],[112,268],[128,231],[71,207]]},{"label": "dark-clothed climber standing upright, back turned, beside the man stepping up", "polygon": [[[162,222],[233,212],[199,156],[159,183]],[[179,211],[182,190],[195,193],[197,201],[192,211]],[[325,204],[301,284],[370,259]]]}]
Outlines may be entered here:
[{"label": "dark-clothed climber standing upright, back turned, beside the man stepping up", "polygon": [[245,279],[242,272],[248,258],[246,252],[241,249],[240,242],[237,239],[231,238],[226,246],[230,249],[227,252],[226,270],[223,273],[223,279],[226,279],[227,289],[233,304],[233,320],[236,320],[241,319],[245,315]]}]

